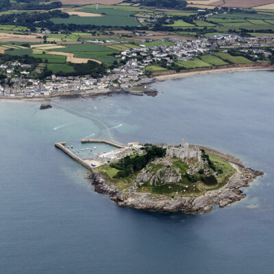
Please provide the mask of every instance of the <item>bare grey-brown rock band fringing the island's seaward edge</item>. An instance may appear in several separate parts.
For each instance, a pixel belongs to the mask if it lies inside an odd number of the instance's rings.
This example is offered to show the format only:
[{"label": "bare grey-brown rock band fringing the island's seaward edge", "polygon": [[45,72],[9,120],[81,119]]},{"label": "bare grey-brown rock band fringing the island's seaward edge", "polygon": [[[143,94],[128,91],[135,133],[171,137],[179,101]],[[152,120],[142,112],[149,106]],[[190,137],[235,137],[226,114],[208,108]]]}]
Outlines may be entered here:
[{"label": "bare grey-brown rock band fringing the island's seaward edge", "polygon": [[240,163],[240,160],[231,155],[227,155],[210,149],[208,147],[200,147],[206,153],[215,155],[227,162],[237,170],[229,182],[225,186],[210,190],[199,197],[153,197],[150,193],[140,192],[121,192],[117,186],[110,185],[107,179],[98,171],[90,172],[88,179],[95,191],[101,194],[110,195],[112,201],[115,201],[118,206],[127,206],[137,210],[165,211],[175,212],[184,211],[186,213],[204,213],[210,212],[214,205],[219,205],[221,208],[240,201],[245,198],[240,188],[249,186],[256,177],[262,176],[264,173],[248,169]]}]

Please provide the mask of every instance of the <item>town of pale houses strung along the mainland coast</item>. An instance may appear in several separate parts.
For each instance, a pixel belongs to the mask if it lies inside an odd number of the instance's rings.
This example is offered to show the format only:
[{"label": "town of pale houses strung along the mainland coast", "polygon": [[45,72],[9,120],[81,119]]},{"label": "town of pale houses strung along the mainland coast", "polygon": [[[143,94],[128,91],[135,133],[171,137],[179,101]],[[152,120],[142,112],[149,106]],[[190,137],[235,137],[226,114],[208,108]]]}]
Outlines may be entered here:
[{"label": "town of pale houses strung along the mainland coast", "polygon": [[[92,78],[90,75],[80,76],[57,76],[51,75],[45,79],[31,77],[40,73],[40,69],[32,64],[20,62],[1,62],[0,71],[7,77],[1,79],[1,97],[7,98],[34,98],[52,97],[58,95],[97,95],[121,90],[132,90],[136,86],[145,86],[153,81],[153,71],[149,66],[158,66],[164,70],[182,72],[191,71],[191,68],[178,66],[179,62],[197,60],[201,56],[211,56],[214,51],[227,53],[234,50],[237,55],[241,54],[249,60],[256,62],[269,62],[273,56],[274,37],[241,37],[236,34],[219,34],[197,40],[178,38],[164,38],[158,41],[159,45],[147,47],[142,42],[153,42],[146,39],[140,42],[138,49],[132,48],[121,51],[116,55],[121,62],[114,68],[108,69],[106,75]],[[168,43],[166,43],[168,42]],[[167,44],[171,45],[167,45]],[[162,44],[162,45],[161,45]],[[123,45],[121,43],[121,45]],[[201,60],[201,59],[199,59]],[[224,60],[227,61],[227,60]],[[221,69],[219,66],[217,69]],[[158,73],[160,75],[160,73]],[[149,79],[150,78],[150,79]],[[143,95],[143,90],[136,91],[137,95]]]}]

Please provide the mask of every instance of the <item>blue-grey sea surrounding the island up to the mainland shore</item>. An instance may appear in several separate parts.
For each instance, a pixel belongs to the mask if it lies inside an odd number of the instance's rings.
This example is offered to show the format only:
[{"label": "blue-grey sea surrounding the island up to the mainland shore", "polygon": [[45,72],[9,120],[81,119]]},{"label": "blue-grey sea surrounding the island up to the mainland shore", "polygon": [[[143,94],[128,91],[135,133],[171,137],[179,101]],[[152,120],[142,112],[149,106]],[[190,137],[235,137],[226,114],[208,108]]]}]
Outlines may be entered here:
[{"label": "blue-grey sea surrounding the island up to the mainland shore", "polygon": [[[274,273],[274,73],[202,75],[153,84],[157,97],[0,101],[0,273]],[[264,171],[247,197],[206,214],[119,208],[86,170],[118,142],[184,139]],[[96,149],[94,149],[96,147]],[[92,150],[92,151],[90,151]]]}]

